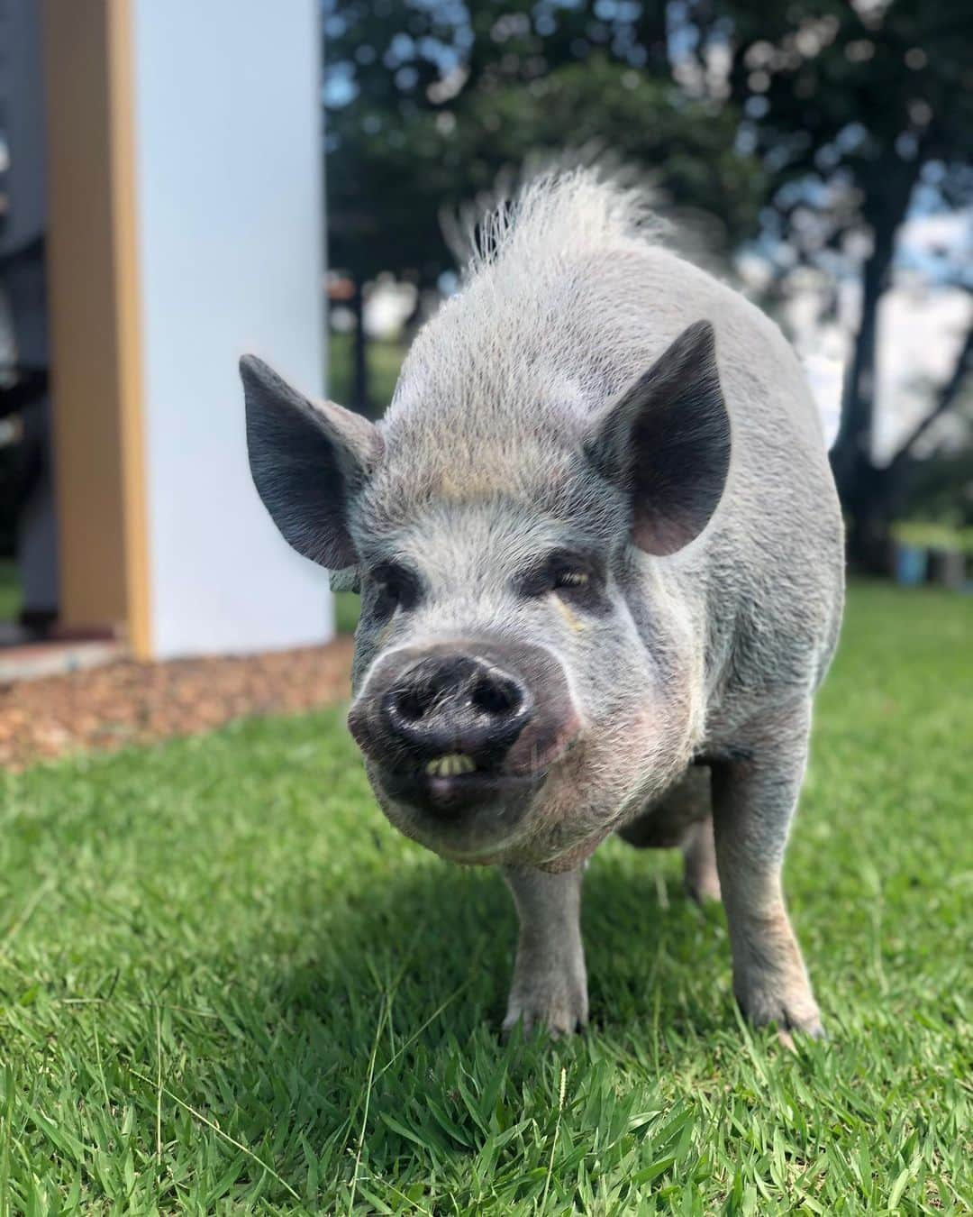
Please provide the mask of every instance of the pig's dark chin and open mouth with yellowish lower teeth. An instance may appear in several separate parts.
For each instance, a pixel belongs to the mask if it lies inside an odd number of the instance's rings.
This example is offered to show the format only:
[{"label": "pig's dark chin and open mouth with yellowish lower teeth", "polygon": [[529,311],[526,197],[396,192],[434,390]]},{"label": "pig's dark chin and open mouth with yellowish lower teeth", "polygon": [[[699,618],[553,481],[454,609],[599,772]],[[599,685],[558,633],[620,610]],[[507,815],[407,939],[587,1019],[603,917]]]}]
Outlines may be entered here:
[{"label": "pig's dark chin and open mouth with yellowish lower teeth", "polygon": [[366,762],[378,803],[400,832],[443,858],[471,865],[504,862],[529,837],[530,813],[551,768],[427,778]]}]

